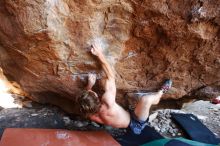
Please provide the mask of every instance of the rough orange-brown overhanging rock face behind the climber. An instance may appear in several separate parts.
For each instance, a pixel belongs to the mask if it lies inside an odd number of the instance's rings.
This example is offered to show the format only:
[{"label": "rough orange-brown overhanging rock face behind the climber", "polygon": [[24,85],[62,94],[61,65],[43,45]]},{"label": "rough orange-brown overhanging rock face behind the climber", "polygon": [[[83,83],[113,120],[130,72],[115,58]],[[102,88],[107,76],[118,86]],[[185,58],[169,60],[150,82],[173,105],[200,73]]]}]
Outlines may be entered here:
[{"label": "rough orange-brown overhanging rock face behind the climber", "polygon": [[169,77],[168,97],[180,98],[220,81],[220,0],[1,0],[0,22],[5,74],[69,112],[87,73],[104,76],[93,43],[114,66],[118,93]]}]

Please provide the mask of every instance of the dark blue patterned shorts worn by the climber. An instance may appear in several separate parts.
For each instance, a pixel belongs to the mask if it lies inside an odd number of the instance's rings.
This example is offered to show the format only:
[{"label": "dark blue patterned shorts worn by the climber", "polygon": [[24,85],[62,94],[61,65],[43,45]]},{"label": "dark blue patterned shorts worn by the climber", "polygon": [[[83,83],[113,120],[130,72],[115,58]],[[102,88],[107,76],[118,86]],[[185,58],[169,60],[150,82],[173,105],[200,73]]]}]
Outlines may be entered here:
[{"label": "dark blue patterned shorts worn by the climber", "polygon": [[146,125],[149,125],[149,118],[146,121],[138,120],[137,116],[135,115],[134,111],[130,111],[131,121],[129,124],[130,130],[134,134],[141,134],[141,131],[145,128]]}]

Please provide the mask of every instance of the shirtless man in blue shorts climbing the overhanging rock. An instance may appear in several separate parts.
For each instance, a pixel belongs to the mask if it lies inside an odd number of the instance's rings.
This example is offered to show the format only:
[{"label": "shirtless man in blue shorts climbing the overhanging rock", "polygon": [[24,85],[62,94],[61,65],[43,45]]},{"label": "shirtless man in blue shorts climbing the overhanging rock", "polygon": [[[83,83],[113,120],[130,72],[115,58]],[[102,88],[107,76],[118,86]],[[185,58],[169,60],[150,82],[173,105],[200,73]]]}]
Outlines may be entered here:
[{"label": "shirtless man in blue shorts climbing the overhanging rock", "polygon": [[172,81],[166,80],[161,89],[152,94],[134,93],[134,96],[135,94],[141,95],[141,98],[135,110],[129,113],[115,101],[115,74],[100,48],[92,46],[91,53],[99,59],[107,76],[104,84],[105,92],[102,97],[98,97],[98,95],[92,91],[92,87],[96,82],[96,76],[89,74],[86,90],[83,91],[82,96],[77,99],[80,104],[81,114],[97,123],[115,128],[130,128],[135,134],[140,134],[148,123],[150,107],[159,103],[162,95],[171,88]]}]

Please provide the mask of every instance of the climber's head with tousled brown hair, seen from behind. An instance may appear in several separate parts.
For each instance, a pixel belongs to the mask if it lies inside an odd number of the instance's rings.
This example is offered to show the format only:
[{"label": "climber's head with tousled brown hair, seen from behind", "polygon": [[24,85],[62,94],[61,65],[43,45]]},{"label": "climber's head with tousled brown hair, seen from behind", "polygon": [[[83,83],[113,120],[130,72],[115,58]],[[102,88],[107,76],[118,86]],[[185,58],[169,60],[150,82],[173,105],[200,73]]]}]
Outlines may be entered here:
[{"label": "climber's head with tousled brown hair, seen from behind", "polygon": [[80,112],[86,117],[95,114],[99,111],[101,103],[98,95],[92,91],[83,91],[82,95],[78,98]]}]

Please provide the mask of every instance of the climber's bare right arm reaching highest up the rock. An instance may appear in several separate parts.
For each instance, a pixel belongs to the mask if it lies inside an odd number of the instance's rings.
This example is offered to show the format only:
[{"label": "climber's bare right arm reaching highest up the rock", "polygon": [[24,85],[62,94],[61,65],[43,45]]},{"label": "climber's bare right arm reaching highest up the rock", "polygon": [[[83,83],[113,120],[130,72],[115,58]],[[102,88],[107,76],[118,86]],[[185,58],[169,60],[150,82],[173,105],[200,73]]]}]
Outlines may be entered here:
[{"label": "climber's bare right arm reaching highest up the rock", "polygon": [[93,46],[91,49],[91,53],[98,57],[98,59],[101,62],[102,68],[107,76],[104,85],[105,93],[102,95],[102,101],[106,103],[109,107],[111,107],[115,103],[115,96],[116,96],[114,71],[112,70],[105,56],[102,54],[101,50],[98,47]]}]

